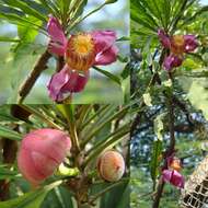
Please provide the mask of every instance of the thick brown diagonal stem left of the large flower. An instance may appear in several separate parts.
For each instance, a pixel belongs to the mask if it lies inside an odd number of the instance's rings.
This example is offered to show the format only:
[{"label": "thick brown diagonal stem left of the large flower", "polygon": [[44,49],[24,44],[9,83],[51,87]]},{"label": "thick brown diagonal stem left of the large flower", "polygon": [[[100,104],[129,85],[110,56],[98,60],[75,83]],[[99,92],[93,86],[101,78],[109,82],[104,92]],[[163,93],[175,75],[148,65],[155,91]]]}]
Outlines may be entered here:
[{"label": "thick brown diagonal stem left of the large flower", "polygon": [[31,71],[31,73],[27,76],[26,80],[22,83],[19,90],[19,97],[18,103],[21,104],[25,100],[25,97],[31,92],[33,85],[37,81],[41,73],[47,68],[47,62],[51,55],[46,50],[41,58],[38,59],[37,63],[35,65],[34,69]]}]

